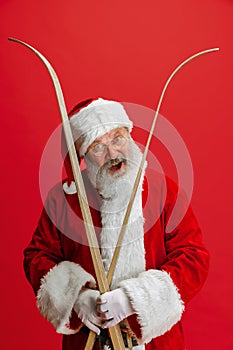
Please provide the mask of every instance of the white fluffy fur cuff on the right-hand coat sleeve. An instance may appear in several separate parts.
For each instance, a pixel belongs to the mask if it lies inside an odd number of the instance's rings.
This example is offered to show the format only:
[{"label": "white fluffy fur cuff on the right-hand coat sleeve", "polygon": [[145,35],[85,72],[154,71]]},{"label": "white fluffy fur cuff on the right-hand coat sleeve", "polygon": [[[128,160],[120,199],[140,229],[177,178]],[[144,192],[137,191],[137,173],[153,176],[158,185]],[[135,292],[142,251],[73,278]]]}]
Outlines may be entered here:
[{"label": "white fluffy fur cuff on the right-hand coat sleeve", "polygon": [[148,270],[119,283],[128,295],[141,326],[141,343],[148,343],[176,324],[184,311],[184,303],[169,274]]}]

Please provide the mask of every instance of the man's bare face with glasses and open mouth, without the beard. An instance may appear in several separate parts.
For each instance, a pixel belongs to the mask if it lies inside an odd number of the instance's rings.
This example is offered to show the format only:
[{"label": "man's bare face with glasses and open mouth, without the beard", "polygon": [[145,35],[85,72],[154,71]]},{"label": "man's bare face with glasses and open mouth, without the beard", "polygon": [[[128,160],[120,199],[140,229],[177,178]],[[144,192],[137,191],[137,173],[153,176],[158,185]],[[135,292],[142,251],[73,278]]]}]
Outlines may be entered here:
[{"label": "man's bare face with glasses and open mouth, without the beard", "polygon": [[96,139],[88,147],[85,157],[98,168],[107,165],[109,175],[119,176],[125,172],[128,149],[128,130],[117,128]]}]

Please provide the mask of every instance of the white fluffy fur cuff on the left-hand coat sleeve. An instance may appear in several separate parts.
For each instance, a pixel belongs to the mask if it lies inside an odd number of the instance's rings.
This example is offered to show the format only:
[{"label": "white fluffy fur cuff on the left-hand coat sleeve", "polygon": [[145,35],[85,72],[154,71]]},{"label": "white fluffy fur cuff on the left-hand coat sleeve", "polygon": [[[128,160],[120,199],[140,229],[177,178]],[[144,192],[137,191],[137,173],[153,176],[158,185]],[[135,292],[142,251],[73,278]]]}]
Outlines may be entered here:
[{"label": "white fluffy fur cuff on the left-hand coat sleeve", "polygon": [[80,265],[63,261],[41,279],[37,293],[40,313],[52,323],[57,333],[74,334],[79,329],[69,328],[73,305],[80,289],[87,283],[95,288],[95,279]]}]

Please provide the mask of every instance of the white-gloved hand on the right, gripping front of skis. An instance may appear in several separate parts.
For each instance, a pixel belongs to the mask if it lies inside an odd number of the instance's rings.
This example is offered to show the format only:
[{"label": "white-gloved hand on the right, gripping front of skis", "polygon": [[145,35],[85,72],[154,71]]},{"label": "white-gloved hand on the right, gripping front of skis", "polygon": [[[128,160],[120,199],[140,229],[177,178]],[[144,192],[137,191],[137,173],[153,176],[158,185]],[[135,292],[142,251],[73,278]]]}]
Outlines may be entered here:
[{"label": "white-gloved hand on the right, gripping front of skis", "polygon": [[109,328],[134,313],[129,298],[122,288],[106,292],[97,298],[98,318],[102,328]]}]

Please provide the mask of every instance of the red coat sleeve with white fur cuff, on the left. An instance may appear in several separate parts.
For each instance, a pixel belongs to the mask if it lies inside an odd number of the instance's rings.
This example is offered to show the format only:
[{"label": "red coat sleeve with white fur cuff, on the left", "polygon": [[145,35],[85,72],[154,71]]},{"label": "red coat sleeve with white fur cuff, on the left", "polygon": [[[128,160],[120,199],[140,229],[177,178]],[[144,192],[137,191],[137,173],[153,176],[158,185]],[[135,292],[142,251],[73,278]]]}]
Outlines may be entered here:
[{"label": "red coat sleeve with white fur cuff, on the left", "polygon": [[24,270],[40,313],[58,333],[78,332],[81,321],[73,312],[80,289],[95,288],[95,279],[79,264],[63,257],[61,233],[55,218],[56,202],[48,197],[32,240],[24,250]]}]

